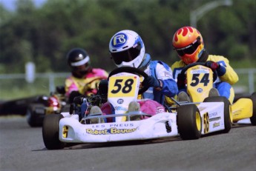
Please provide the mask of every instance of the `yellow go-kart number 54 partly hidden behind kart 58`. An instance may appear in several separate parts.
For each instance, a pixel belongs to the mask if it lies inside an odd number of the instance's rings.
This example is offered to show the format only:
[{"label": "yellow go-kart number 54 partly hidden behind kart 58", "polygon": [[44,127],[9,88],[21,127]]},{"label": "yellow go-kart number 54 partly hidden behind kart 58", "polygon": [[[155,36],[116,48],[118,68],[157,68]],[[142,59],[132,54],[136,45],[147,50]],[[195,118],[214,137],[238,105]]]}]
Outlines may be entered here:
[{"label": "yellow go-kart number 54 partly hidden behind kart 58", "polygon": [[[209,91],[213,82],[217,79],[216,70],[205,67],[205,63],[196,62],[188,64],[180,73],[186,75],[187,93],[193,102],[209,101]],[[211,98],[211,101],[219,101],[220,97]],[[231,118],[235,123],[245,118],[250,118],[252,125],[256,125],[256,93],[249,98],[239,98],[231,106]]]}]

